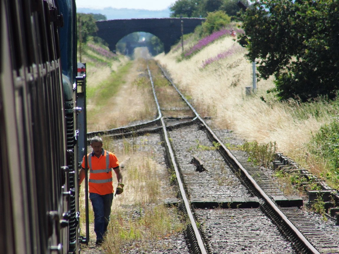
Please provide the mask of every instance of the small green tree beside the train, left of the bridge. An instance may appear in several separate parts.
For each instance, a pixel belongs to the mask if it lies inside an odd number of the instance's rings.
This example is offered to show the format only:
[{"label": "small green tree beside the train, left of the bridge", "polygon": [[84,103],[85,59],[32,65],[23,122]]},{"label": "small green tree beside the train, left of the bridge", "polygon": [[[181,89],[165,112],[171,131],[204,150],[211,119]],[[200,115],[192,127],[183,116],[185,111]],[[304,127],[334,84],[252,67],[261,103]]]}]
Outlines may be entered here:
[{"label": "small green tree beside the train, left of the bridge", "polygon": [[81,62],[83,44],[88,37],[98,30],[95,19],[91,14],[77,13],[77,39],[79,45],[79,61]]}]

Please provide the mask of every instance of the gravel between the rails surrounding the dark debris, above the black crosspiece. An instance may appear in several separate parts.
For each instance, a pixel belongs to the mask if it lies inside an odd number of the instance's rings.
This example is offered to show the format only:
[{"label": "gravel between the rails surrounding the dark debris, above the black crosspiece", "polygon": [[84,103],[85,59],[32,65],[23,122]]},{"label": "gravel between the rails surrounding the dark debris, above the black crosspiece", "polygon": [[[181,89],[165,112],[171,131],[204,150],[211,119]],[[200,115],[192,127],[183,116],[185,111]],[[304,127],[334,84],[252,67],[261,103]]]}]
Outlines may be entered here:
[{"label": "gravel between the rails surrounding the dark debris, above the black crosspiece", "polygon": [[[252,196],[224,162],[221,154],[213,150],[206,133],[199,130],[197,125],[176,129],[169,134],[191,199]],[[193,155],[203,162],[206,171],[198,172],[190,164]]]}]

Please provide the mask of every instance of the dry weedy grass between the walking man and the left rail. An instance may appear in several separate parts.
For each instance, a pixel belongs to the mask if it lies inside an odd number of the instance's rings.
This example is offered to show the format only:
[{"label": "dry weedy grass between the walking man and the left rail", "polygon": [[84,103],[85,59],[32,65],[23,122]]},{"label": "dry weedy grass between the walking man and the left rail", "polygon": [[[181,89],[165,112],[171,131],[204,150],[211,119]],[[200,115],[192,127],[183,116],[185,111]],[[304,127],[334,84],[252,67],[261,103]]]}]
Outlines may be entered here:
[{"label": "dry weedy grass between the walking man and the left rail", "polygon": [[[113,199],[111,220],[102,248],[110,254],[118,254],[120,249],[140,248],[149,251],[153,247],[162,248],[157,243],[158,239],[183,230],[176,209],[163,205],[163,199],[175,197],[175,191],[169,185],[167,168],[153,160],[154,151],[147,137],[119,143],[110,137],[103,137],[103,141],[104,149],[114,151],[120,165],[124,165],[121,170],[125,186],[124,192]],[[116,181],[113,183],[115,185]],[[80,201],[81,214],[85,214],[83,189]],[[93,242],[96,236],[90,202],[89,218],[90,239]],[[81,217],[81,229],[85,229],[84,216]],[[89,248],[83,247],[83,252],[87,251]]]}]

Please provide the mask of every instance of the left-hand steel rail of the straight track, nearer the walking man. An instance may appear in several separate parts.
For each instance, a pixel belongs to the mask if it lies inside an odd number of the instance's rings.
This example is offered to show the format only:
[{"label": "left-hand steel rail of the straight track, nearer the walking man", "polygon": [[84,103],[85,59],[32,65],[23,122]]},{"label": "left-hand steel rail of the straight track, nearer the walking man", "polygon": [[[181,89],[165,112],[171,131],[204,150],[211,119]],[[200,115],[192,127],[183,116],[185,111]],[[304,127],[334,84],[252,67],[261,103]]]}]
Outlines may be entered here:
[{"label": "left-hand steel rail of the straight track, nearer the walking man", "polygon": [[[151,83],[152,83],[152,89],[153,89],[154,98],[156,100],[158,110],[160,111],[160,106],[159,106],[158,99],[157,99],[157,96],[156,96],[156,93],[155,93],[154,83],[153,83],[151,71],[149,70],[148,65],[147,65],[147,70],[148,70],[149,79],[151,80]],[[159,115],[161,115],[161,112],[159,112]],[[166,145],[167,145],[167,148],[168,148],[168,152],[169,152],[169,154],[171,156],[172,165],[173,165],[176,177],[177,177],[177,181],[178,181],[180,193],[181,193],[181,196],[182,196],[182,200],[184,202],[184,205],[185,205],[188,217],[190,218],[191,225],[192,225],[192,228],[194,230],[194,234],[195,234],[196,240],[198,242],[198,246],[199,246],[200,252],[201,252],[201,254],[207,254],[204,242],[202,240],[202,237],[201,237],[200,232],[198,230],[196,221],[194,219],[190,203],[188,202],[184,185],[183,185],[183,183],[181,181],[181,176],[180,176],[180,172],[179,172],[177,163],[175,161],[175,156],[174,156],[174,152],[173,152],[173,149],[172,149],[172,145],[171,145],[171,142],[169,141],[169,138],[168,138],[168,133],[167,133],[165,121],[164,121],[163,117],[161,117],[160,120],[161,120],[161,124],[162,124],[162,130],[163,130],[163,133],[164,133]]]}]

